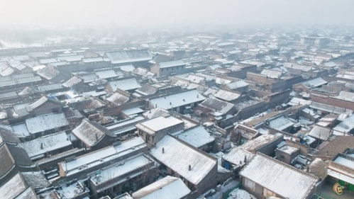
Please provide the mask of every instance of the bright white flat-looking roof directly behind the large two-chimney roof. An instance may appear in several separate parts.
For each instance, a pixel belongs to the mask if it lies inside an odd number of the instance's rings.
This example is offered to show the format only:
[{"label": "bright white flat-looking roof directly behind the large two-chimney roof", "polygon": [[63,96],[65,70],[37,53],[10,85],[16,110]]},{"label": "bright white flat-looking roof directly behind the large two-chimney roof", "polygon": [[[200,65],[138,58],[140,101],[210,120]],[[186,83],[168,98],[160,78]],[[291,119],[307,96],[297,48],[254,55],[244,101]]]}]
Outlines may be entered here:
[{"label": "bright white flat-looking roof directly behind the large two-chimney roof", "polygon": [[148,132],[153,135],[155,132],[167,129],[169,127],[182,124],[183,121],[175,117],[157,117],[150,120],[146,120],[143,123],[138,123],[136,127],[144,132]]}]

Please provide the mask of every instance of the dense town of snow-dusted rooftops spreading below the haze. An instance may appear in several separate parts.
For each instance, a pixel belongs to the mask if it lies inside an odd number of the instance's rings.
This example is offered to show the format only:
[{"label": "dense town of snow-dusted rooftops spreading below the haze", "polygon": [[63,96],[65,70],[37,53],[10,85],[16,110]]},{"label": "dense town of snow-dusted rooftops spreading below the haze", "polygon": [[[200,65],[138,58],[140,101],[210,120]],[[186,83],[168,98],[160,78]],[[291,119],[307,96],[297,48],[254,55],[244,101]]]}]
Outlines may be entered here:
[{"label": "dense town of snow-dusted rooftops spreading below the haze", "polygon": [[354,42],[328,31],[1,51],[0,198],[353,198]]}]

